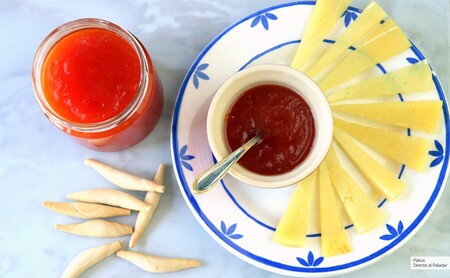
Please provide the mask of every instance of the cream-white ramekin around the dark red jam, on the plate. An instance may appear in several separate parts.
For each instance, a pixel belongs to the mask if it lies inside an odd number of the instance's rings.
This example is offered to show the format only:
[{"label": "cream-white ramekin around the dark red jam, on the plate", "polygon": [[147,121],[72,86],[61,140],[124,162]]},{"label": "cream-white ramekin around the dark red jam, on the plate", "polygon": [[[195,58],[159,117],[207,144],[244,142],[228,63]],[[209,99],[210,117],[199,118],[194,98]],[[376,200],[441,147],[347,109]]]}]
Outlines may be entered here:
[{"label": "cream-white ramekin around the dark red jam, on the plate", "polygon": [[231,167],[229,173],[241,182],[256,187],[278,188],[293,185],[317,169],[325,158],[333,137],[331,110],[322,90],[308,76],[296,69],[275,64],[257,65],[241,70],[225,81],[217,90],[208,110],[209,145],[217,160],[230,154],[226,139],[225,116],[244,91],[263,84],[290,88],[308,103],[316,128],[311,152],[301,164],[284,174],[256,174],[238,163]]}]

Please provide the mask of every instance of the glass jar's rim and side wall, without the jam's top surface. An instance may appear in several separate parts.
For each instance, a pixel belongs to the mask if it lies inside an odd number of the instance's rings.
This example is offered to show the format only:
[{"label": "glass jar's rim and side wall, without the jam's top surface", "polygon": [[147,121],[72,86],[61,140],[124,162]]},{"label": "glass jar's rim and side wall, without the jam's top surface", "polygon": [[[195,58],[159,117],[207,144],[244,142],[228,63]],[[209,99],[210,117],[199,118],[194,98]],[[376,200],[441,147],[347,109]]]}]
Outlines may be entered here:
[{"label": "glass jar's rim and side wall, without the jam's top surface", "polygon": [[[42,84],[43,66],[52,48],[68,35],[85,29],[104,29],[119,35],[132,46],[140,64],[139,84],[128,106],[115,116],[94,123],[74,122],[62,116],[49,104]],[[78,19],[52,31],[34,57],[32,82],[37,102],[50,122],[81,145],[97,151],[118,151],[139,143],[154,129],[163,108],[163,88],[142,43],[127,30],[102,19]]]}]

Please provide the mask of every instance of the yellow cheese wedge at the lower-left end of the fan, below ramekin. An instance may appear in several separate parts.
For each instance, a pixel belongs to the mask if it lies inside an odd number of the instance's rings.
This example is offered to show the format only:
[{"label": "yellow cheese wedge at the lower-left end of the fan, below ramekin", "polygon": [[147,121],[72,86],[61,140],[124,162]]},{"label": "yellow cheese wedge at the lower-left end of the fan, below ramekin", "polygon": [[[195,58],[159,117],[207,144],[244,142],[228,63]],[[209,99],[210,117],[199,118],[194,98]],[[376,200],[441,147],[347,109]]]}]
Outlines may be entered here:
[{"label": "yellow cheese wedge at the lower-left end of the fan, below ramekin", "polygon": [[313,172],[298,183],[273,234],[273,241],[289,247],[303,247],[305,245],[316,176],[316,172]]}]

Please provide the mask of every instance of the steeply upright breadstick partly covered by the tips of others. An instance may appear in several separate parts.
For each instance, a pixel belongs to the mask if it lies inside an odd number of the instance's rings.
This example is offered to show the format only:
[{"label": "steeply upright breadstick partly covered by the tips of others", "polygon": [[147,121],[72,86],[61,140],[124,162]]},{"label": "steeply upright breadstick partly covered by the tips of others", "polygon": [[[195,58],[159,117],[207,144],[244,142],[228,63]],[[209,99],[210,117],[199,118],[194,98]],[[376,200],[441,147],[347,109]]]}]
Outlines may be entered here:
[{"label": "steeply upright breadstick partly covered by the tips of others", "polygon": [[[160,164],[158,170],[156,171],[155,178],[153,179],[158,184],[164,184],[164,173],[166,170],[166,166],[164,164]],[[159,192],[147,192],[145,195],[144,202],[150,204],[152,207],[148,212],[140,211],[137,218],[136,223],[134,224],[134,232],[131,235],[129,246],[133,248],[136,246],[136,243],[144,233],[145,228],[147,228],[148,223],[152,219],[153,213],[158,207],[159,199],[161,198],[161,193]]]}]

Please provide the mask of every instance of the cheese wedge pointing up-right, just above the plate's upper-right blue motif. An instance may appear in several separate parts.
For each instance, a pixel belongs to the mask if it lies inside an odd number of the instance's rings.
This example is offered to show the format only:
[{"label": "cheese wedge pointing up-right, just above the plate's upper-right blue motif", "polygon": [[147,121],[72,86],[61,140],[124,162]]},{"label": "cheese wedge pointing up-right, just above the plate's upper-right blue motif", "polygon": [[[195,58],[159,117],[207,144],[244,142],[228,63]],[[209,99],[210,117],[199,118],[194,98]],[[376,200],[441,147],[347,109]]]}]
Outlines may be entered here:
[{"label": "cheese wedge pointing up-right, just above the plate's upper-right blue motif", "polygon": [[[393,20],[388,19],[380,28],[389,22]],[[319,87],[326,92],[410,47],[410,41],[398,26],[389,28],[358,46],[319,83]]]}]

